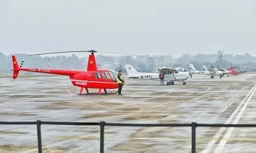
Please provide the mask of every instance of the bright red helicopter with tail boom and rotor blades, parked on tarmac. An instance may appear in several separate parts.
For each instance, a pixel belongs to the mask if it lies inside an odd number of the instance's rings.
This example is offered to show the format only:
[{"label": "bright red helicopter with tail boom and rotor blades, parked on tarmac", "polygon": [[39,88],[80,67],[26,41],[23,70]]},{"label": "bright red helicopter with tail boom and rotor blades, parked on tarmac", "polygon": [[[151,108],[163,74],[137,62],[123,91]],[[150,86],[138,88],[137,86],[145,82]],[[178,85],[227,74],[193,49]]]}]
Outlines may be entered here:
[{"label": "bright red helicopter with tail boom and rotor blades, parked on tarmac", "polygon": [[[87,71],[77,71],[77,70],[55,70],[55,69],[37,69],[37,68],[22,68],[22,64],[18,66],[17,60],[14,55],[12,55],[12,63],[13,63],[13,80],[15,80],[18,76],[19,71],[29,71],[29,72],[37,72],[37,73],[48,73],[48,74],[57,74],[57,75],[66,75],[69,76],[73,85],[78,86],[80,89],[79,94],[81,95],[83,89],[86,89],[87,94],[89,94],[88,89],[99,89],[98,94],[101,93],[101,90],[104,90],[104,93],[107,94],[106,89],[117,89],[117,72],[113,70],[98,70],[97,64],[95,60],[94,53],[99,51],[66,51],[66,52],[51,52],[51,53],[42,53],[42,54],[33,54],[34,55],[46,55],[46,54],[56,54],[56,53],[74,53],[74,52],[90,52],[87,65]],[[101,53],[114,53],[114,54],[122,54],[122,55],[131,55],[131,56],[140,56],[140,55],[132,55],[132,54],[123,54],[123,53],[115,53],[115,52],[102,52]],[[140,56],[147,57],[147,56]],[[147,57],[147,58],[155,58],[155,57]],[[160,58],[155,58],[160,59]]]}]

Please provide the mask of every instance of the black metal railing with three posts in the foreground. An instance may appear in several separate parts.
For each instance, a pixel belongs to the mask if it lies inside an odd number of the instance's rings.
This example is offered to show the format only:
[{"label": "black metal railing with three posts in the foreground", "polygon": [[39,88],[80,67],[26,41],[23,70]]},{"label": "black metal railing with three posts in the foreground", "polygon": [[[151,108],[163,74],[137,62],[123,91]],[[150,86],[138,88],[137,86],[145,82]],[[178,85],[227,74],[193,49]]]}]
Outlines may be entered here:
[{"label": "black metal railing with three posts in the foreground", "polygon": [[256,127],[256,124],[198,124],[191,122],[190,124],[133,124],[133,123],[106,123],[101,122],[0,122],[2,125],[37,125],[37,143],[38,152],[42,152],[41,125],[99,125],[100,126],[100,153],[104,152],[104,127],[105,126],[133,126],[133,127],[191,127],[191,152],[196,152],[196,127]]}]

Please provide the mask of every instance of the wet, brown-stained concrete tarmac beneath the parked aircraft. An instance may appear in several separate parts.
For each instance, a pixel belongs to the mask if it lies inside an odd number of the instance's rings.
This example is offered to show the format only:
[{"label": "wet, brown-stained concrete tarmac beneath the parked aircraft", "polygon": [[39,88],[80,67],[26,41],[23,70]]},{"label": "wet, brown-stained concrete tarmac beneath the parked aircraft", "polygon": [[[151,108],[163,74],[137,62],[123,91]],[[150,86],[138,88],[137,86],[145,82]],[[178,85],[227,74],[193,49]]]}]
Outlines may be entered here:
[{"label": "wet, brown-stained concrete tarmac beneath the parked aircraft", "polygon": [[[256,124],[256,74],[174,85],[124,76],[123,96],[69,77],[0,78],[0,121]],[[90,90],[97,93],[97,90]],[[108,90],[116,92],[117,90]],[[99,126],[41,125],[43,152],[99,152]],[[197,127],[197,152],[255,152],[256,128]],[[191,127],[105,127],[105,152],[191,152]],[[36,125],[0,125],[0,152],[38,152]]]}]

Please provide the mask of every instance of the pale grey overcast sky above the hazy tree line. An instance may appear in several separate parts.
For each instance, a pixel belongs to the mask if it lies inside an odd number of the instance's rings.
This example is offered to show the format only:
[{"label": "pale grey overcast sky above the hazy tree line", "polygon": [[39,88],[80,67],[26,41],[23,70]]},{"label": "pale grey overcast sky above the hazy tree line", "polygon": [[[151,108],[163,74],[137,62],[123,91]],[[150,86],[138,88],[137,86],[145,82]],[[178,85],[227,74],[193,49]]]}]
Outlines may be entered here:
[{"label": "pale grey overcast sky above the hazy tree line", "polygon": [[256,56],[256,1],[0,0],[0,52]]}]

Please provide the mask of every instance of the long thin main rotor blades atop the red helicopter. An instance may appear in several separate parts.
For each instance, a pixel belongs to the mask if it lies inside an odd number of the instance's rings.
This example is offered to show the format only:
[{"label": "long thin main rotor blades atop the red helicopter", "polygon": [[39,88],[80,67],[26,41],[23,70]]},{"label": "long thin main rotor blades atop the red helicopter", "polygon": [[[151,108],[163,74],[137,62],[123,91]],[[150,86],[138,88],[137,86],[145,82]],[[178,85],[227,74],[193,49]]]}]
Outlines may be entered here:
[{"label": "long thin main rotor blades atop the red helicopter", "polygon": [[95,50],[90,50],[90,51],[64,51],[64,52],[50,52],[50,53],[41,53],[41,54],[30,54],[27,56],[35,56],[35,55],[46,55],[46,54],[57,54],[57,53],[78,53],[78,52],[89,52],[89,53],[111,53],[111,54],[121,54],[121,55],[130,55],[130,56],[138,56],[138,57],[147,57],[147,58],[154,58],[154,59],[162,59],[162,58],[157,58],[157,57],[150,57],[150,56],[142,56],[142,55],[135,55],[135,54],[124,54],[124,53],[117,53],[117,52],[105,52],[105,51],[95,51]]}]

